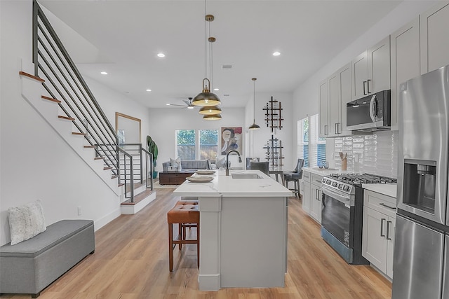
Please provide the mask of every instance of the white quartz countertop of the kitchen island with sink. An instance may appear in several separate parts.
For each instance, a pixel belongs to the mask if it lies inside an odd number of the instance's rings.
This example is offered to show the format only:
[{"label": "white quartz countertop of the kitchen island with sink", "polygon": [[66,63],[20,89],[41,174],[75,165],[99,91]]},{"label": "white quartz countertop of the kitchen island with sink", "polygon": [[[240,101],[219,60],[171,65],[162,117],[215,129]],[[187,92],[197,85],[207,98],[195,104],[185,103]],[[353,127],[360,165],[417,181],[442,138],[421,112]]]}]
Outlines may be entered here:
[{"label": "white quartz countertop of the kitchen island with sink", "polygon": [[[258,174],[262,179],[234,179],[232,174]],[[197,175],[197,174],[194,174]],[[225,171],[217,170],[213,180],[207,183],[192,183],[185,181],[173,191],[176,196],[202,197],[290,197],[293,193],[270,176],[259,170],[230,170],[229,176]]]}]

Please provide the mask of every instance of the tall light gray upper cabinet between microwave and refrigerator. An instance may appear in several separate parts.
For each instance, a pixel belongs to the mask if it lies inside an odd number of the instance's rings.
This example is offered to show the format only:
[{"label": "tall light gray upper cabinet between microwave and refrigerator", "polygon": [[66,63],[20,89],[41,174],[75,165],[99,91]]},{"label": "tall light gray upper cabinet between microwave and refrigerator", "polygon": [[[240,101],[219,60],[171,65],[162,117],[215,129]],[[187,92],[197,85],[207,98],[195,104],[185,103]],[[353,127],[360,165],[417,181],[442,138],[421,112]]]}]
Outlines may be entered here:
[{"label": "tall light gray upper cabinet between microwave and refrigerator", "polygon": [[420,76],[420,18],[391,34],[391,130],[398,130],[399,86]]}]

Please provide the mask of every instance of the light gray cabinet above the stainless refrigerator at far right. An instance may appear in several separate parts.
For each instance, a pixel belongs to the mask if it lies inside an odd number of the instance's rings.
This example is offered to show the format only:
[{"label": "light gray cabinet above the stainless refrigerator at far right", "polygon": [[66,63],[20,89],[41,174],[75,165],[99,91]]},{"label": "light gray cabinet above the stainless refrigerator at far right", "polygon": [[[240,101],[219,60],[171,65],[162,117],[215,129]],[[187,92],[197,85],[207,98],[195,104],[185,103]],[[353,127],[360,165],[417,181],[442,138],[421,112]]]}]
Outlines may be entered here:
[{"label": "light gray cabinet above the stainless refrigerator at far right", "polygon": [[421,74],[449,64],[449,3],[420,15]]}]

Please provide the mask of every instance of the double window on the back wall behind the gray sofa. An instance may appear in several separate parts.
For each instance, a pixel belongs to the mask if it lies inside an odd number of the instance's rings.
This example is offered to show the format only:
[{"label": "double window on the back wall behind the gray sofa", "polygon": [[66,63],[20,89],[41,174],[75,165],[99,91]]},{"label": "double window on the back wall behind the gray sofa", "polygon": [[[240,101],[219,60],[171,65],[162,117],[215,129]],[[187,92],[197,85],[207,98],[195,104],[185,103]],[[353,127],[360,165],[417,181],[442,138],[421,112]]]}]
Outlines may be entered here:
[{"label": "double window on the back wall behind the gray sofa", "polygon": [[176,156],[181,160],[216,160],[218,130],[176,130]]}]

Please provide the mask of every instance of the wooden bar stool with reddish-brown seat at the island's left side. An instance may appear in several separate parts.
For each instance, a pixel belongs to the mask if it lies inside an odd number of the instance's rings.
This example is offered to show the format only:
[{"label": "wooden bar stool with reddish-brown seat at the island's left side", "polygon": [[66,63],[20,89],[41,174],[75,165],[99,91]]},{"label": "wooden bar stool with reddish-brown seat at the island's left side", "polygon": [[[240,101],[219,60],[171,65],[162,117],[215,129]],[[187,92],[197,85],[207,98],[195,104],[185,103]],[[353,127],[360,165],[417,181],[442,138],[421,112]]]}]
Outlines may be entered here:
[{"label": "wooden bar stool with reddish-brown seat at the island's left side", "polygon": [[[173,271],[173,249],[179,244],[196,244],[196,255],[199,267],[199,210],[197,200],[180,200],[167,213],[168,221],[168,262],[170,272]],[[178,235],[173,239],[173,224],[178,224]],[[186,228],[196,227],[196,239],[186,239]]]}]

